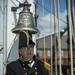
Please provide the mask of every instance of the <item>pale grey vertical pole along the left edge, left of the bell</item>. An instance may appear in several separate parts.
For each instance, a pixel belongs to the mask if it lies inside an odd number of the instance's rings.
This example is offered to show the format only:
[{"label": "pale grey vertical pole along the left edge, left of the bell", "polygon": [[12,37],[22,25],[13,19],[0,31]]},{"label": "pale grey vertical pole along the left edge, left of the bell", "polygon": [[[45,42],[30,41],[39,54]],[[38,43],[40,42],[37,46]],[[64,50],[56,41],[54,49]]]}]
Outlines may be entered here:
[{"label": "pale grey vertical pole along the left edge, left of the bell", "polygon": [[[3,0],[3,62],[6,62],[7,58],[7,9],[8,9],[8,0]],[[3,75],[6,72],[6,66],[3,66]]]}]

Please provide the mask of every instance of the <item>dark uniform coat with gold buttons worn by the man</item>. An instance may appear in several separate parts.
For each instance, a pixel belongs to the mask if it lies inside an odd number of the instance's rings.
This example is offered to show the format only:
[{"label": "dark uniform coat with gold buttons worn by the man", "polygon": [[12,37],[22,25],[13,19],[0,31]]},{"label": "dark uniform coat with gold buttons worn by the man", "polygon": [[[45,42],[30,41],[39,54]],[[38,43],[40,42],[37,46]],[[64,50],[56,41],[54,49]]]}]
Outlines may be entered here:
[{"label": "dark uniform coat with gold buttons worn by the man", "polygon": [[49,75],[49,73],[40,60],[36,60],[33,67],[30,68],[18,59],[7,65],[6,75]]}]

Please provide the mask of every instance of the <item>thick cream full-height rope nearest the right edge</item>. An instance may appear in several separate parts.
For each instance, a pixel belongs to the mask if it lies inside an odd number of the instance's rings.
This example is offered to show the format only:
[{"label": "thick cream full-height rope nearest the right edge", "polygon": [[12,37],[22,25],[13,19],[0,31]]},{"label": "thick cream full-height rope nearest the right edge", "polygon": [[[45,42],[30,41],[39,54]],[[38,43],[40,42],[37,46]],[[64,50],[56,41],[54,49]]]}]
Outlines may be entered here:
[{"label": "thick cream full-height rope nearest the right edge", "polygon": [[68,15],[69,15],[69,39],[70,39],[70,62],[71,62],[71,75],[73,75],[73,48],[72,48],[72,18],[71,18],[71,0],[68,0]]}]

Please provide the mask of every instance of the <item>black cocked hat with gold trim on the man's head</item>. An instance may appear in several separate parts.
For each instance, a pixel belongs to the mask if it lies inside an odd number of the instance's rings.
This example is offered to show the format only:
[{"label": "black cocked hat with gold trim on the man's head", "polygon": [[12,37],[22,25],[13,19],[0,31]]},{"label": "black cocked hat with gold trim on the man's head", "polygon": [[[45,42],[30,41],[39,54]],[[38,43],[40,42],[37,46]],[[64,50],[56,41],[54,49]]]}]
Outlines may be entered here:
[{"label": "black cocked hat with gold trim on the man's head", "polygon": [[19,35],[19,49],[26,46],[34,46],[32,35],[29,31],[21,31]]}]

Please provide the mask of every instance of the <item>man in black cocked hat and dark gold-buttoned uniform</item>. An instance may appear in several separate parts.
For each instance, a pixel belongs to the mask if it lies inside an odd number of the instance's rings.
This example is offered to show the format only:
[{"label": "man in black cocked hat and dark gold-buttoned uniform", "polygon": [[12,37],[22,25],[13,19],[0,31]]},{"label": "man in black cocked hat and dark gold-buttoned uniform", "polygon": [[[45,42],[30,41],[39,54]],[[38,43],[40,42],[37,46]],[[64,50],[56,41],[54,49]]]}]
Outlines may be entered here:
[{"label": "man in black cocked hat and dark gold-buttoned uniform", "polygon": [[34,58],[32,35],[28,31],[20,32],[19,59],[7,65],[6,75],[49,75],[44,63]]}]

